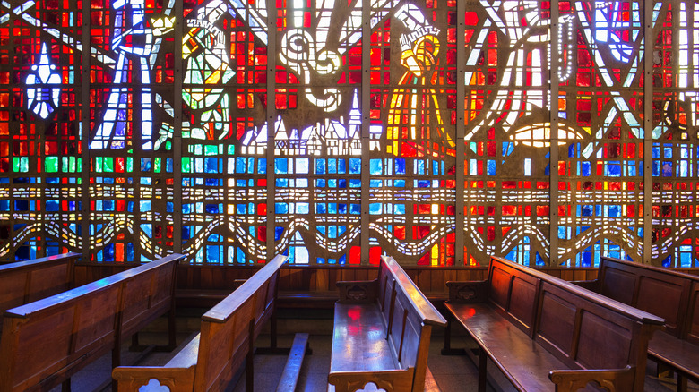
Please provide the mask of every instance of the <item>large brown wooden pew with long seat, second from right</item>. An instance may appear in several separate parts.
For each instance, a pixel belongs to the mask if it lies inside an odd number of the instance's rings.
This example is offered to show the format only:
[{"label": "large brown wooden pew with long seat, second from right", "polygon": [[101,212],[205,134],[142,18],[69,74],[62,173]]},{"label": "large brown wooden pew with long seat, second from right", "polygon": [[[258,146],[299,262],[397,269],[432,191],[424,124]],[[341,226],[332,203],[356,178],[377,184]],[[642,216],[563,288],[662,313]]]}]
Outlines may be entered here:
[{"label": "large brown wooden pew with long seat, second from right", "polygon": [[659,317],[496,257],[488,280],[447,286],[446,309],[479,345],[479,391],[488,358],[521,391],[643,391]]}]

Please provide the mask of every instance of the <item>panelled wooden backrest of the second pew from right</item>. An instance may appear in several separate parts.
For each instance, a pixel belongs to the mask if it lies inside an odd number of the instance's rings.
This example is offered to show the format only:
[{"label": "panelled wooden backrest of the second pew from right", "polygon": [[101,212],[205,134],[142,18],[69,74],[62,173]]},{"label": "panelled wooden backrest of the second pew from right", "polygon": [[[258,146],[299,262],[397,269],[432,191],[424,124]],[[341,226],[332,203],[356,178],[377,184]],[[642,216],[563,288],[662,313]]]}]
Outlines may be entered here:
[{"label": "panelled wooden backrest of the second pew from right", "polygon": [[497,257],[487,289],[489,302],[571,369],[631,365],[634,385],[643,385],[647,342],[660,317]]}]

